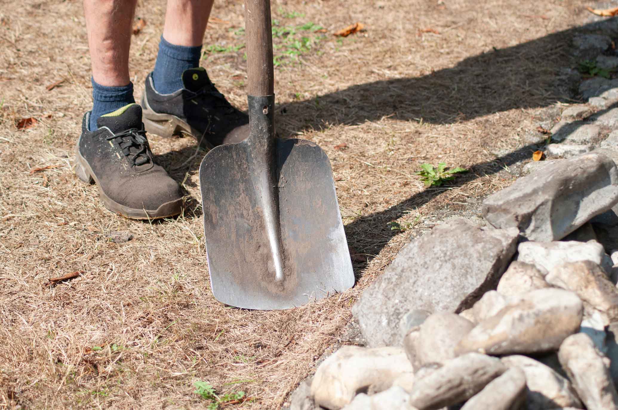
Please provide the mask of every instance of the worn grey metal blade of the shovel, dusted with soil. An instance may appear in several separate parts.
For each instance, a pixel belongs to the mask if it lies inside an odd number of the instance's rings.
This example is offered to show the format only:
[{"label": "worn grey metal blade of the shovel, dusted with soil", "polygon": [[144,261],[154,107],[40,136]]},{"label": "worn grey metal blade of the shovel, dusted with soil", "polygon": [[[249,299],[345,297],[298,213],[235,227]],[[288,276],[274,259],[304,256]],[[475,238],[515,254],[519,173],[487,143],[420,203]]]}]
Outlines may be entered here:
[{"label": "worn grey metal blade of the shovel, dusted with soil", "polygon": [[275,147],[282,278],[265,233],[263,170],[247,141],[218,146],[201,162],[211,288],[231,306],[289,309],[354,284],[328,157],[306,140],[276,139]]}]

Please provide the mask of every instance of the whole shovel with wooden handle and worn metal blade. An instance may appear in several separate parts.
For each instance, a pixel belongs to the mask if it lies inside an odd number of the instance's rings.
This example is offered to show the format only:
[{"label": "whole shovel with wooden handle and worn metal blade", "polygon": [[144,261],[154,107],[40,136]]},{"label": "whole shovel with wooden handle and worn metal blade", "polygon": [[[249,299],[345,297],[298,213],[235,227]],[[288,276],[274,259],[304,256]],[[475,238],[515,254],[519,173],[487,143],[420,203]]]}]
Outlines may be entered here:
[{"label": "whole shovel with wooden handle and worn metal blade", "polygon": [[331,164],[307,140],[274,136],[269,0],[245,0],[250,133],[200,165],[213,295],[247,309],[289,309],[354,284]]}]

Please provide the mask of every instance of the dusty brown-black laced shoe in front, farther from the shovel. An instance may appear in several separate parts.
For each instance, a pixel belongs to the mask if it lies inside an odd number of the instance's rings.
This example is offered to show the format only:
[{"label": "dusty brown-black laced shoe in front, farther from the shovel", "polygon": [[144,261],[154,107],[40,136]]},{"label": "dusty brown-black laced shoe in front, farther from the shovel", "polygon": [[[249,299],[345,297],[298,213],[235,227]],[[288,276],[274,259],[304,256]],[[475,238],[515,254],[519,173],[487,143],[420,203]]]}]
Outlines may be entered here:
[{"label": "dusty brown-black laced shoe in front, farther from the shovel", "polygon": [[142,123],[142,107],[129,104],[99,117],[88,129],[90,111],[83,116],[82,135],[75,148],[75,174],[96,182],[104,206],[132,219],[156,219],[180,214],[178,183],[153,161]]}]

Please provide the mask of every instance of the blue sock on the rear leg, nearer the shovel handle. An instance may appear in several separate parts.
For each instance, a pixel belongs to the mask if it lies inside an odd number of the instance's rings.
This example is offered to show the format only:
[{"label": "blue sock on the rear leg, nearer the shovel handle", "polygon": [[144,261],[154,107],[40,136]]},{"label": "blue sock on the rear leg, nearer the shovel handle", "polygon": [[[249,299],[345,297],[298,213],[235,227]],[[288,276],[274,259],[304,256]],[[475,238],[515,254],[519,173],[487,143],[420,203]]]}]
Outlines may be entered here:
[{"label": "blue sock on the rear leg, nearer the shovel handle", "polygon": [[175,46],[161,36],[156,56],[153,83],[161,94],[171,94],[183,88],[182,72],[200,66],[201,46]]}]

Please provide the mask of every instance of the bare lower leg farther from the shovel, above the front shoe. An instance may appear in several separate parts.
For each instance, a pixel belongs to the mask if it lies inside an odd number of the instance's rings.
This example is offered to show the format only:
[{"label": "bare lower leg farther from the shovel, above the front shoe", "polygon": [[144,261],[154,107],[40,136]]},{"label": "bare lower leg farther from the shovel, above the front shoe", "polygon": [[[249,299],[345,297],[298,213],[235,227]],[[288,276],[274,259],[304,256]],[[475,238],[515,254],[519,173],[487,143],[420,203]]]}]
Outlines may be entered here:
[{"label": "bare lower leg farther from the shovel, above the front shoe", "polygon": [[92,77],[103,86],[129,84],[131,26],[137,0],[84,0]]}]

